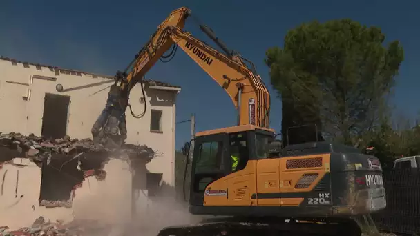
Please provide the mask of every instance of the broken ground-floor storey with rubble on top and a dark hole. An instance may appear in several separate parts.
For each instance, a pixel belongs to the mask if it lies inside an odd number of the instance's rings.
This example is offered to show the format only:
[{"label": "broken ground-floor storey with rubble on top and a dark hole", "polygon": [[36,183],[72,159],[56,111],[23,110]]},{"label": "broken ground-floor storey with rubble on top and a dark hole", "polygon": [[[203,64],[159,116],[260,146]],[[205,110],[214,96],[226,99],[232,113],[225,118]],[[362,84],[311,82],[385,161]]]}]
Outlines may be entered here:
[{"label": "broken ground-floor storey with rubble on top and a dark hole", "polygon": [[147,146],[113,150],[90,139],[0,134],[0,202],[7,216],[0,224],[18,229],[42,216],[122,228],[131,220],[146,228],[156,222],[169,226],[168,217],[180,219],[182,210],[187,212],[175,202],[163,174],[146,168],[155,157],[159,154]]}]

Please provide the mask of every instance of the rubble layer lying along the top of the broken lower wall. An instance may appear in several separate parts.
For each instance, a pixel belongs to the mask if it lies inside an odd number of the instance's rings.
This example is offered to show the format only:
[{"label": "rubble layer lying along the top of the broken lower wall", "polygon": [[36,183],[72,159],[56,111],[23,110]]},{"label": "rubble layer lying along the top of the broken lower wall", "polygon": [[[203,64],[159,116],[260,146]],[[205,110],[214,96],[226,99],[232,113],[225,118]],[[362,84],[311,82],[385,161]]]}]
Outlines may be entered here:
[{"label": "rubble layer lying along the top of the broken lower wall", "polygon": [[94,142],[92,139],[71,139],[67,135],[61,139],[46,139],[33,134],[25,136],[15,132],[8,134],[0,132],[0,147],[17,150],[20,154],[34,161],[43,161],[54,153],[73,155],[78,153],[106,152],[108,155],[113,156],[126,153],[130,157],[141,157],[146,161],[151,161],[158,155],[146,145],[123,144],[119,148],[110,148]]}]

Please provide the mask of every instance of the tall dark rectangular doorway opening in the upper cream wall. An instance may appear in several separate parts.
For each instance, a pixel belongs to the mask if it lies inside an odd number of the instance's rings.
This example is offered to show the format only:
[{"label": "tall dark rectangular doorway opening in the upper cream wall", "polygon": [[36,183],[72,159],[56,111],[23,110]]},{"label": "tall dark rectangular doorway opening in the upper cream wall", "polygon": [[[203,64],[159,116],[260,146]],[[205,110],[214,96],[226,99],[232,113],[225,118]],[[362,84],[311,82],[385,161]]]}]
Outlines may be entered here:
[{"label": "tall dark rectangular doorway opening in the upper cream wall", "polygon": [[69,104],[70,96],[45,94],[41,130],[43,137],[60,139],[66,135]]}]

